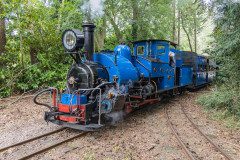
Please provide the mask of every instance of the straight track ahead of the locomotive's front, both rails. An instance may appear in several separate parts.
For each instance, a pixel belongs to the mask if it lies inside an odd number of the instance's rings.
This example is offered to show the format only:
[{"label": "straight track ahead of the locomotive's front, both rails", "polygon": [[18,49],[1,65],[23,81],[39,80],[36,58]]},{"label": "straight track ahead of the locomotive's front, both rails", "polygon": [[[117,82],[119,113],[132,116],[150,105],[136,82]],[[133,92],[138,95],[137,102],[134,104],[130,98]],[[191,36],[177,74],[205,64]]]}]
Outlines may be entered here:
[{"label": "straight track ahead of the locomotive's front, both rails", "polygon": [[[59,133],[59,132],[64,131],[64,130],[66,130],[66,128],[57,129],[57,130],[54,130],[54,131],[51,131],[51,132],[48,132],[48,133],[45,133],[45,134],[36,136],[36,137],[34,137],[34,138],[30,138],[30,139],[27,139],[27,140],[18,142],[18,143],[16,143],[16,144],[13,144],[13,145],[10,145],[10,146],[6,146],[6,147],[4,147],[4,148],[1,148],[1,149],[0,149],[0,152],[7,151],[7,150],[10,149],[10,148],[14,148],[14,147],[26,145],[26,144],[28,144],[28,143],[30,143],[30,142],[33,142],[33,141],[39,140],[39,139],[41,139],[41,138],[44,138],[44,137],[53,135],[53,134],[55,134],[55,133]],[[78,133],[78,134],[76,134],[76,135],[74,135],[74,136],[71,136],[71,137],[69,137],[69,138],[67,138],[67,139],[61,140],[61,141],[56,142],[56,143],[54,143],[54,144],[51,144],[51,145],[49,145],[49,146],[45,146],[45,147],[43,147],[43,148],[41,148],[41,149],[39,149],[39,150],[37,150],[37,151],[34,151],[34,152],[32,152],[32,153],[29,153],[29,154],[26,154],[26,155],[24,155],[23,157],[17,158],[17,159],[18,159],[18,160],[25,160],[25,159],[32,158],[32,157],[34,157],[34,156],[36,156],[36,155],[39,155],[39,154],[41,154],[41,153],[44,153],[44,152],[46,152],[46,151],[48,151],[48,150],[50,150],[50,149],[53,149],[53,148],[55,148],[55,147],[57,147],[57,146],[60,146],[60,145],[62,145],[62,144],[64,144],[64,143],[67,143],[67,142],[70,142],[70,141],[72,141],[72,140],[74,140],[74,139],[76,139],[76,138],[82,137],[82,136],[86,135],[87,133],[88,133],[88,132]]]}]

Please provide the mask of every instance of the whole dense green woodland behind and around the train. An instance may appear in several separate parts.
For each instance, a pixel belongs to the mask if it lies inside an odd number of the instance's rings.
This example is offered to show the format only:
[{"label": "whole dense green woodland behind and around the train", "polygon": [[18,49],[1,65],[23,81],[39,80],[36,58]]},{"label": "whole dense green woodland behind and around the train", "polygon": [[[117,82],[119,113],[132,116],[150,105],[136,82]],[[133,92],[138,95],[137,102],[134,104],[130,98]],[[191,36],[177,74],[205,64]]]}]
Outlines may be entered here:
[{"label": "whole dense green woodland behind and around the train", "polygon": [[213,93],[199,102],[240,119],[240,3],[237,0],[0,0],[0,97],[64,88],[72,63],[61,35],[97,25],[95,50],[167,39],[219,65]]}]

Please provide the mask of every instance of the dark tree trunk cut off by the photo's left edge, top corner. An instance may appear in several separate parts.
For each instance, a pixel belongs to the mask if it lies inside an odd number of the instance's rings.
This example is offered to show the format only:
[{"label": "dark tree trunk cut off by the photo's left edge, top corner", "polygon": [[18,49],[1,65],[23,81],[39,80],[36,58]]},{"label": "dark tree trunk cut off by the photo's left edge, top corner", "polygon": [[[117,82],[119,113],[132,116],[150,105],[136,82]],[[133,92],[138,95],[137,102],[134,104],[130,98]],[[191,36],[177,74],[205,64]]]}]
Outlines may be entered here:
[{"label": "dark tree trunk cut off by the photo's left edge, top corner", "polygon": [[[2,4],[0,2],[0,14],[3,13]],[[0,17],[0,55],[5,51],[6,45],[6,32],[5,32],[5,19]]]}]

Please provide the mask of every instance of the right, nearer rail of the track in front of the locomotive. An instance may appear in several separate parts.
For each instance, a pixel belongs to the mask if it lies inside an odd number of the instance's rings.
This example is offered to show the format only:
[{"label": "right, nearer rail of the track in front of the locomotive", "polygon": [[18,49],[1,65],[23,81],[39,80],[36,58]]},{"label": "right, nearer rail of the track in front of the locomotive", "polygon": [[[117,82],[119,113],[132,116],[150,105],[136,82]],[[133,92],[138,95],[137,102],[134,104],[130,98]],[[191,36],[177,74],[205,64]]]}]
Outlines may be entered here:
[{"label": "right, nearer rail of the track in front of the locomotive", "polygon": [[31,153],[31,154],[29,154],[29,155],[27,155],[27,156],[24,156],[24,157],[20,158],[19,160],[25,160],[25,159],[32,158],[32,157],[34,157],[34,156],[36,156],[36,155],[38,155],[38,154],[44,153],[44,152],[46,152],[46,151],[48,151],[48,150],[50,150],[50,149],[52,149],[52,148],[55,148],[55,147],[57,147],[57,146],[60,146],[61,144],[64,144],[64,143],[67,143],[67,142],[69,142],[69,141],[72,141],[72,140],[74,140],[74,139],[76,139],[76,138],[82,137],[82,136],[86,135],[87,133],[88,133],[88,132],[83,132],[83,133],[77,134],[76,136],[70,137],[70,138],[65,139],[65,140],[63,140],[63,141],[60,141],[60,142],[58,142],[58,143],[55,143],[55,144],[53,144],[53,145],[51,145],[51,146],[48,146],[48,147],[46,147],[46,148],[43,148],[43,149],[38,150],[38,151],[36,151],[36,152],[33,152],[33,153]]}]

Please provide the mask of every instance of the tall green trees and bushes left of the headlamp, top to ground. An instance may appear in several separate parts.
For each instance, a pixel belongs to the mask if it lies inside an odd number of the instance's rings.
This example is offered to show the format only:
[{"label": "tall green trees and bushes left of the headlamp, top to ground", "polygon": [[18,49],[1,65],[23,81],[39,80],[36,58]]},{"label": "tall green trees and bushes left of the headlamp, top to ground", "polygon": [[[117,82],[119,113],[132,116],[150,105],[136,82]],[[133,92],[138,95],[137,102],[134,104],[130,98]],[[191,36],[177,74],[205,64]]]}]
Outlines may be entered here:
[{"label": "tall green trees and bushes left of the headlamp, top to ground", "polygon": [[[6,53],[0,56],[0,97],[39,87],[64,88],[71,58],[61,45],[62,30],[81,24],[80,1],[10,0]],[[67,23],[66,23],[67,22]],[[37,63],[32,63],[34,49]]]}]

